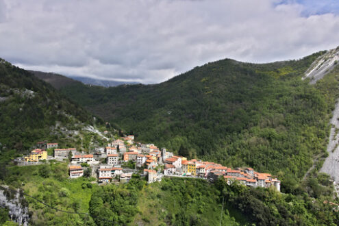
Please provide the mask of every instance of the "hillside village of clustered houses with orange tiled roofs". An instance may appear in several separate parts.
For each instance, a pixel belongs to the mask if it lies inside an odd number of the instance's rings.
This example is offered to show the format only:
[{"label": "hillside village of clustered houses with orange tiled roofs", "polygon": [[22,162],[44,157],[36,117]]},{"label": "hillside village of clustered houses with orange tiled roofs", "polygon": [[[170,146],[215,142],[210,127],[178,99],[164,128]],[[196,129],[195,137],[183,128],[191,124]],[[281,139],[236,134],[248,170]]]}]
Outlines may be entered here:
[{"label": "hillside village of clustered houses with orange tiled roofs", "polygon": [[[84,176],[86,168],[91,167],[91,175],[97,177],[99,184],[127,182],[133,174],[146,177],[149,183],[161,181],[162,177],[201,178],[211,182],[223,177],[227,184],[238,181],[244,186],[273,186],[280,191],[280,181],[269,173],[258,173],[253,168],[232,169],[214,162],[188,160],[165,148],[135,142],[133,135],[118,138],[108,143],[107,147],[98,147],[92,153],[81,153],[75,148],[60,149],[58,143],[47,141],[38,142],[37,147],[25,156],[25,163],[68,159],[71,179]],[[47,149],[53,149],[53,156],[47,155]]]}]

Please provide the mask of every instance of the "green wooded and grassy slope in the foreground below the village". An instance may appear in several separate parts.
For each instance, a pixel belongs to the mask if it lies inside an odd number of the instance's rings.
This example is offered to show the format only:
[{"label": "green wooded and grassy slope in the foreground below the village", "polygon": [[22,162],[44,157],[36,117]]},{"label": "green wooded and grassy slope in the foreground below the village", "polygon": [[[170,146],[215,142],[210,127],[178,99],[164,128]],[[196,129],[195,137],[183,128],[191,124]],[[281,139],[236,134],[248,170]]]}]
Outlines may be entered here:
[{"label": "green wooded and grassy slope in the foreground below the village", "polygon": [[[64,162],[8,170],[0,182],[31,196],[25,198],[32,225],[339,224],[339,212],[324,203],[333,192],[326,175],[306,181],[308,193],[294,195],[238,183],[229,186],[223,179],[210,184],[203,179],[164,178],[147,184],[140,175],[127,184],[98,186],[92,177],[68,179]],[[6,213],[0,212],[0,224],[6,221]]]}]

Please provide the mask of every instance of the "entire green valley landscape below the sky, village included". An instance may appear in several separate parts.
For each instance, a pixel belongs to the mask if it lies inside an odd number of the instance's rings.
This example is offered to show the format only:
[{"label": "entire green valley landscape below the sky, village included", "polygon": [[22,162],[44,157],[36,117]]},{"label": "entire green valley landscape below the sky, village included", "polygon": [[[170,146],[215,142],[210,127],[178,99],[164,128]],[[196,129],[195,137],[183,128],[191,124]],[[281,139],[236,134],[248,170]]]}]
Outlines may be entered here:
[{"label": "entire green valley landscape below the sky, village included", "polygon": [[111,88],[3,61],[0,182],[57,209],[25,197],[34,225],[336,224],[338,67],[302,79],[321,58]]}]

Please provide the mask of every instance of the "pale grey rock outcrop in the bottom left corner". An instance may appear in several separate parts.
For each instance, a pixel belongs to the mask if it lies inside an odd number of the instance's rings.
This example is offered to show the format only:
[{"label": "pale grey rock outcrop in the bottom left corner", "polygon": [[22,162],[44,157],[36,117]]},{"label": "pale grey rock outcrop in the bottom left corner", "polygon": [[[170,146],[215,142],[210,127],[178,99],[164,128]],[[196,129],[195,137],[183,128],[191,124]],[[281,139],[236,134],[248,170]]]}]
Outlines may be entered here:
[{"label": "pale grey rock outcrop in the bottom left corner", "polygon": [[[8,188],[7,186],[3,187]],[[11,221],[18,223],[18,225],[28,226],[28,207],[21,204],[23,199],[25,198],[21,197],[19,192],[14,194],[13,199],[8,199],[5,192],[0,189],[0,207],[8,208]]]}]

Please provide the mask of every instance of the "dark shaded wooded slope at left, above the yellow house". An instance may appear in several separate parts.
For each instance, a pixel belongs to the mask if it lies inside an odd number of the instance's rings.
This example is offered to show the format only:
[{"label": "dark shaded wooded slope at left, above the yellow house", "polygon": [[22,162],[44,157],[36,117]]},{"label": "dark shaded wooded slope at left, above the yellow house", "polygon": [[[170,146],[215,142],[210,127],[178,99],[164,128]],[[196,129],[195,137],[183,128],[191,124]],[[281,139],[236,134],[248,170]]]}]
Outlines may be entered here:
[{"label": "dark shaded wooded slope at left, above the yellow house", "polygon": [[66,129],[92,121],[50,84],[0,59],[0,162],[26,153],[40,139],[64,143]]}]

